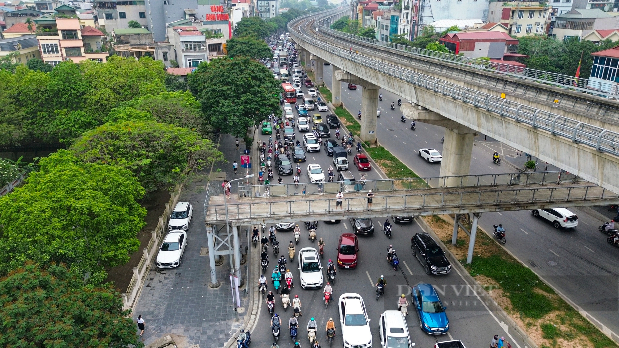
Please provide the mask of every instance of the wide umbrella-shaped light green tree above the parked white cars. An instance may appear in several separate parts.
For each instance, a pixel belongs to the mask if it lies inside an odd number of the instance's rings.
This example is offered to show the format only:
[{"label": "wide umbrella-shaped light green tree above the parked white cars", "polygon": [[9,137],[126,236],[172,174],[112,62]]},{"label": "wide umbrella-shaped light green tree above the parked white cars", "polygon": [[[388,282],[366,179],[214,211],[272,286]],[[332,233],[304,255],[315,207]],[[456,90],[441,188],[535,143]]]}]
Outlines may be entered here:
[{"label": "wide umbrella-shaped light green tree above the parked white cars", "polygon": [[87,163],[110,163],[136,175],[147,191],[183,181],[222,154],[195,131],[156,121],[106,123],[84,133],[72,152]]}]

